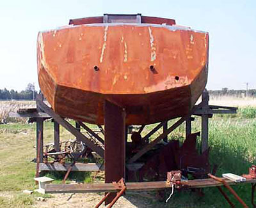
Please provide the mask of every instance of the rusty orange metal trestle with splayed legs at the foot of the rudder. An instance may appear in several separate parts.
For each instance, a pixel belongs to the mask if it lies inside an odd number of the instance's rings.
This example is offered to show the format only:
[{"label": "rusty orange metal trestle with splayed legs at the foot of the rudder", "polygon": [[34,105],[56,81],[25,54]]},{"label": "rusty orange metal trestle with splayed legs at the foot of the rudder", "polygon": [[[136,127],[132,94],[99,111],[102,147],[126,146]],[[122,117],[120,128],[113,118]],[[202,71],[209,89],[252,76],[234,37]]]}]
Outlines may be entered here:
[{"label": "rusty orange metal trestle with splayed legs at the foot of the rudder", "polygon": [[[115,187],[116,190],[120,190],[116,193],[116,197],[113,198],[113,200],[109,203],[108,208],[113,207],[113,205],[116,203],[116,201],[118,200],[118,198],[120,198],[126,190],[126,186],[125,186],[125,182],[124,179],[120,179],[118,182],[113,181],[112,182],[113,186]],[[107,193],[105,195],[105,197],[102,198],[102,200],[100,200],[99,204],[97,204],[95,206],[95,208],[99,208],[100,205],[106,200],[106,198],[108,198],[108,196],[110,195],[111,192]]]}]

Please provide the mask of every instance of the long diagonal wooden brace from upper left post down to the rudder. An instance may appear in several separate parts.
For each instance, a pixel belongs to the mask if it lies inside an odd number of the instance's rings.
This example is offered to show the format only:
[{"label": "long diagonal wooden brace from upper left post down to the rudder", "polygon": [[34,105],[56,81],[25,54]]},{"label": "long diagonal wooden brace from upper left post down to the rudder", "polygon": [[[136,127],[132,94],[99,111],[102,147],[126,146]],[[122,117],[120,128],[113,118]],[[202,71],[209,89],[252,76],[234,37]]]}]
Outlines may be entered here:
[{"label": "long diagonal wooden brace from upper left post down to the rudder", "polygon": [[92,149],[93,151],[97,152],[97,154],[99,154],[99,156],[104,158],[104,149],[102,149],[102,147],[99,147],[98,145],[94,144],[90,139],[85,137],[83,135],[83,133],[77,131],[76,128],[74,128],[74,126],[72,126],[70,123],[65,121],[65,119],[60,117],[60,115],[56,114],[52,110],[52,108],[49,108],[43,101],[40,101],[40,100],[36,100],[36,105],[38,105],[38,107],[40,107],[42,110],[44,110],[44,112],[46,112],[47,114],[51,115],[51,117],[56,122],[61,124],[61,126],[63,126],[66,130],[68,130],[70,133],[72,133],[72,135],[77,137],[77,139],[79,141],[83,141],[88,147],[90,147],[90,149]]}]

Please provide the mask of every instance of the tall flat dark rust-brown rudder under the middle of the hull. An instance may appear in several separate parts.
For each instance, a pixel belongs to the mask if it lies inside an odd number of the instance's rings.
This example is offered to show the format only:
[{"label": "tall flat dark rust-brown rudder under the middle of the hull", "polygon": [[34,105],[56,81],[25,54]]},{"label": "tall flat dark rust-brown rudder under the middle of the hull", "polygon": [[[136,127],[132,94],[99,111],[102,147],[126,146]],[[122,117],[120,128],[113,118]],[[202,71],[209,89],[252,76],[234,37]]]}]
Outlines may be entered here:
[{"label": "tall flat dark rust-brown rudder under the middle of the hull", "polygon": [[[125,178],[125,111],[117,105],[105,101],[105,182],[118,182]],[[115,193],[106,200],[109,204]]]}]

